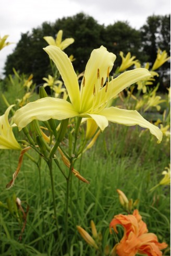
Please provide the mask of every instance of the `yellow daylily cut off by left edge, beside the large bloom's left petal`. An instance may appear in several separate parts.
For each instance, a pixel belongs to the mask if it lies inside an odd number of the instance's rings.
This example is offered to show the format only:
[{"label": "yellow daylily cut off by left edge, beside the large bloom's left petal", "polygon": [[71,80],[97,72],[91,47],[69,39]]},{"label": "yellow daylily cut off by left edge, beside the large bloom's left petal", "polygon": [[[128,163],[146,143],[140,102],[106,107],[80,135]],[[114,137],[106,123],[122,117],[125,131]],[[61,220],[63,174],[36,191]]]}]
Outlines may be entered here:
[{"label": "yellow daylily cut off by left edge, beside the large bloom's left petal", "polygon": [[8,114],[13,106],[9,106],[5,114],[0,117],[0,149],[21,149],[14,136],[13,127],[8,122]]}]

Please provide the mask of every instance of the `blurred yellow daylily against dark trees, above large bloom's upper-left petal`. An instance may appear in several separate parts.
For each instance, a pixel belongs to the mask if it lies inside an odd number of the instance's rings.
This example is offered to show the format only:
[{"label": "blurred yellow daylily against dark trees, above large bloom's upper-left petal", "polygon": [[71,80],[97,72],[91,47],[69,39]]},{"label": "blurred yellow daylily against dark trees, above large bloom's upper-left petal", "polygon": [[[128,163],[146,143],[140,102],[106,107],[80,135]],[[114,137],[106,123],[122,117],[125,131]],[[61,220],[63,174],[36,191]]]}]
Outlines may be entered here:
[{"label": "blurred yellow daylily against dark trees, above large bloom's upper-left petal", "polygon": [[74,43],[74,38],[66,38],[64,41],[62,41],[62,38],[63,38],[63,30],[59,30],[56,36],[56,40],[53,37],[44,37],[44,40],[49,45],[57,46],[63,51],[70,44]]}]

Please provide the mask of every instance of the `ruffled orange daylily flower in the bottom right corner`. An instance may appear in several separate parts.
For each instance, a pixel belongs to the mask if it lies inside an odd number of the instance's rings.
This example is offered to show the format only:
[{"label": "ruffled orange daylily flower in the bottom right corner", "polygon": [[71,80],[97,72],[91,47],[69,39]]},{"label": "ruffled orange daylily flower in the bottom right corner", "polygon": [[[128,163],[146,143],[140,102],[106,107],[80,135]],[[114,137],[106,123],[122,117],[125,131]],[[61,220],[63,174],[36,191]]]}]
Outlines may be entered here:
[{"label": "ruffled orange daylily flower in the bottom right corner", "polygon": [[109,225],[110,230],[113,228],[117,233],[118,224],[124,227],[124,236],[116,248],[118,256],[135,256],[136,253],[161,256],[161,250],[167,247],[165,242],[158,242],[156,235],[148,233],[138,210],[132,215],[116,215]]}]

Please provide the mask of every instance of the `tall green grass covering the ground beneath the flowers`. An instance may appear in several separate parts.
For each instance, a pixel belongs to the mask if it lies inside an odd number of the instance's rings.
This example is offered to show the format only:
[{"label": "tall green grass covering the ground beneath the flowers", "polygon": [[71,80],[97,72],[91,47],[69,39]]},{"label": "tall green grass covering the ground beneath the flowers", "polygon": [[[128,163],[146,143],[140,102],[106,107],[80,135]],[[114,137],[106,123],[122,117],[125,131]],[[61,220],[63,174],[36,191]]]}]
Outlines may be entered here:
[{"label": "tall green grass covering the ground beneath the flowers", "polygon": [[[116,238],[109,234],[108,226],[114,215],[124,213],[116,189],[122,190],[129,199],[140,200],[137,208],[149,231],[154,232],[160,241],[169,244],[169,188],[158,187],[150,192],[161,180],[161,173],[169,164],[169,144],[164,138],[158,145],[149,132],[141,132],[138,127],[110,125],[100,135],[94,147],[76,163],[75,168],[90,184],[79,181],[72,174],[68,212],[70,255],[96,255],[94,249],[83,241],[76,229],[76,226],[80,225],[91,234],[91,219],[94,220],[97,230],[102,233],[103,248],[106,245],[113,247]],[[39,171],[25,156],[15,186],[6,190],[5,185],[15,171],[19,153],[4,150],[0,154],[1,202],[6,204],[10,199],[13,205],[15,194],[22,201],[25,211],[27,204],[29,205],[27,223],[22,235],[23,222],[19,225],[17,218],[12,216],[7,208],[0,208],[0,254],[58,255],[59,243],[50,173],[46,163],[42,160]],[[66,184],[55,166],[53,173],[63,255],[68,255],[64,217]],[[121,231],[118,236],[121,238]],[[168,252],[165,255],[168,255]]]}]

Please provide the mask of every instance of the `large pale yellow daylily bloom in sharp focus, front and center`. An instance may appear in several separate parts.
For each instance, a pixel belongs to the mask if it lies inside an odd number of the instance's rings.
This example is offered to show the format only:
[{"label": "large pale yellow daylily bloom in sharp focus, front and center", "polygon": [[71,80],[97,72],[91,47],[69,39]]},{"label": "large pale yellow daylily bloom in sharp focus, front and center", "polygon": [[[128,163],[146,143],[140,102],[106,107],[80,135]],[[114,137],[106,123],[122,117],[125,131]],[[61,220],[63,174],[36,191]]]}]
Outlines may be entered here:
[{"label": "large pale yellow daylily bloom in sharp focus, front and center", "polygon": [[[109,72],[113,68],[116,55],[109,53],[104,46],[92,51],[79,88],[77,75],[68,56],[56,46],[47,46],[44,50],[56,64],[68,91],[70,102],[64,99],[46,97],[16,111],[14,122],[21,130],[32,120],[65,120],[73,117],[92,118],[103,131],[108,121],[124,125],[140,125],[148,128],[158,139],[162,140],[160,129],[146,121],[136,110],[115,107],[107,108],[107,102],[129,85],[150,76],[145,68],[136,68],[124,72],[109,81]],[[106,82],[107,81],[107,82]]]}]

